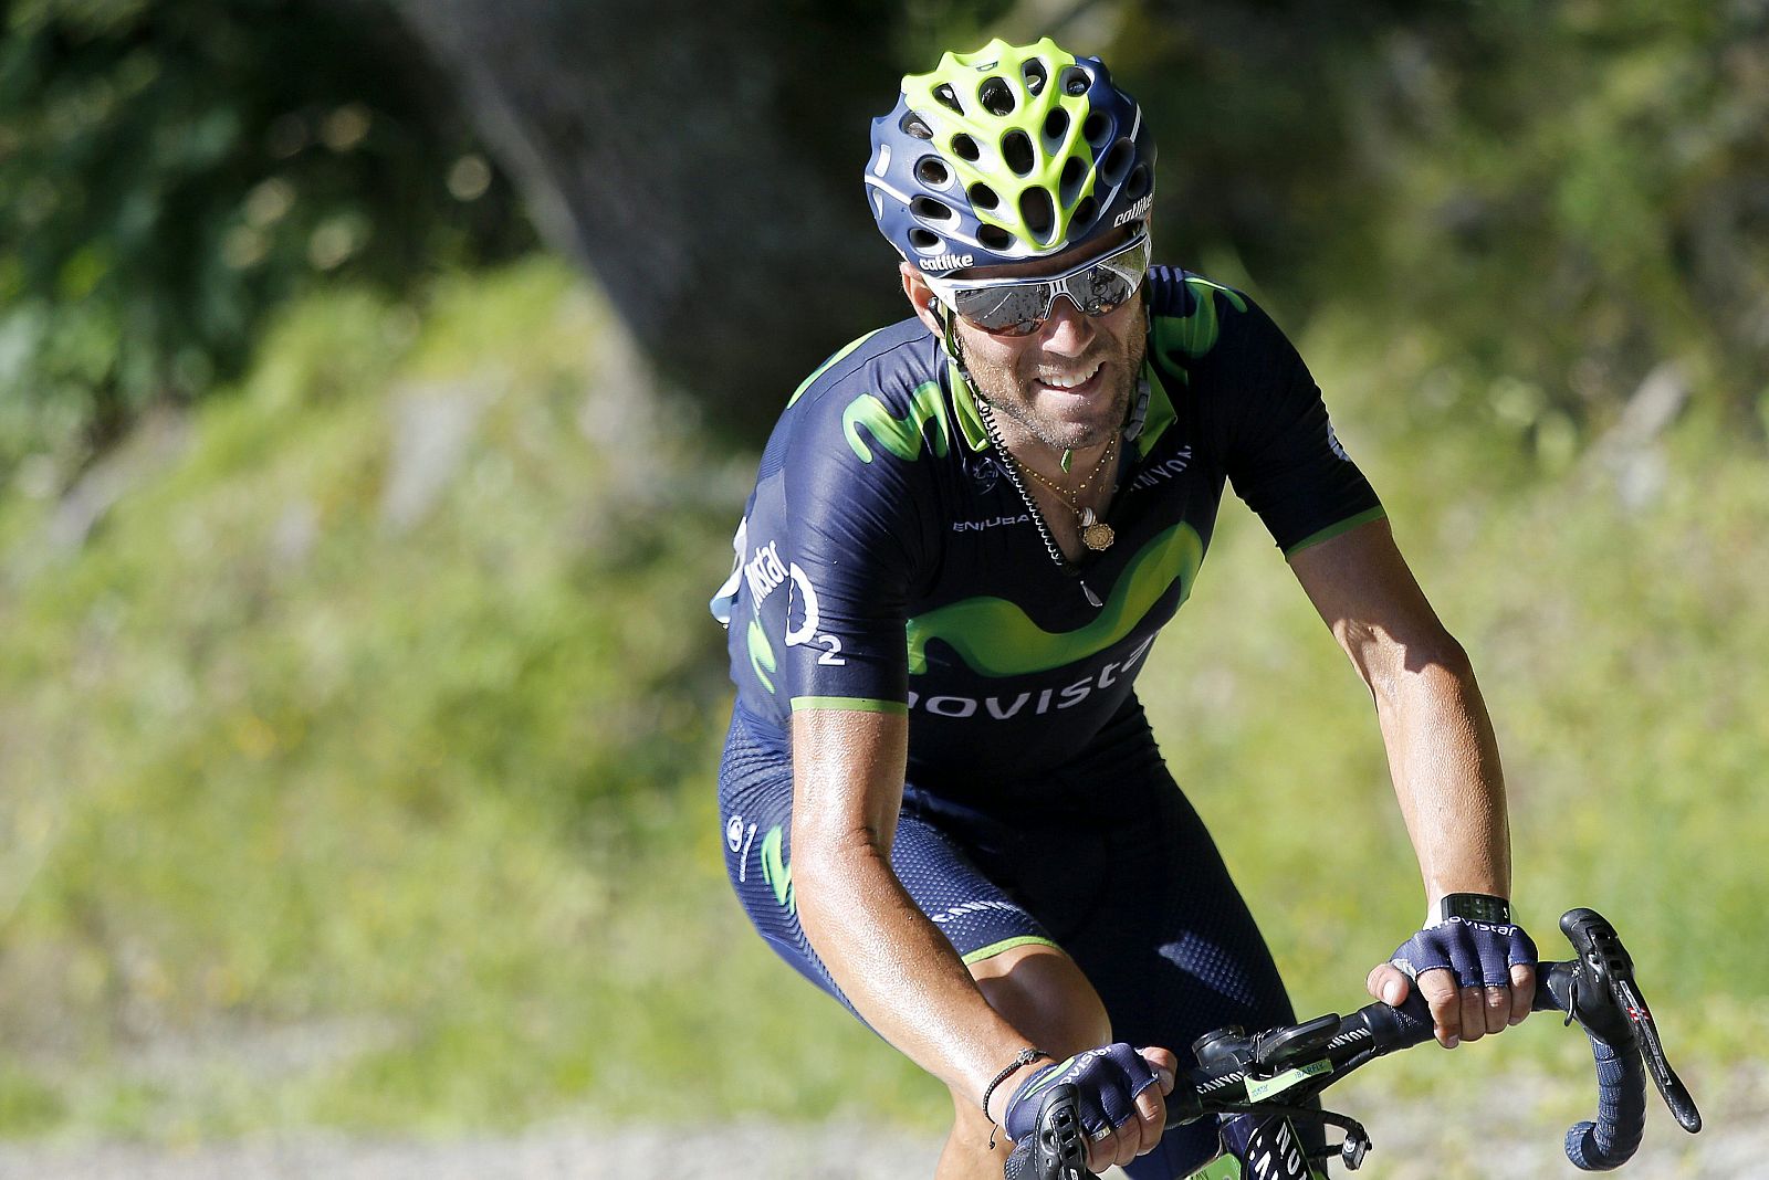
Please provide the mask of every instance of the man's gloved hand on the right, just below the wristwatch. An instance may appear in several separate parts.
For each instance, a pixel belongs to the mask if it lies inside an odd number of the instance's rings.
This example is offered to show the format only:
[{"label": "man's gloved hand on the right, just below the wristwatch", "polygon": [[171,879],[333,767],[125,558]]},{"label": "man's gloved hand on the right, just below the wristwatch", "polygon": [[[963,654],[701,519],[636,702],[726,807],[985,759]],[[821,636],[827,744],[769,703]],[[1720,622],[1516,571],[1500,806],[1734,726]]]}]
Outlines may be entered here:
[{"label": "man's gloved hand on the right, just below the wristwatch", "polygon": [[1535,1000],[1535,943],[1511,922],[1428,926],[1369,973],[1369,995],[1405,1003],[1412,984],[1431,1005],[1438,1044],[1454,1049],[1518,1025]]}]

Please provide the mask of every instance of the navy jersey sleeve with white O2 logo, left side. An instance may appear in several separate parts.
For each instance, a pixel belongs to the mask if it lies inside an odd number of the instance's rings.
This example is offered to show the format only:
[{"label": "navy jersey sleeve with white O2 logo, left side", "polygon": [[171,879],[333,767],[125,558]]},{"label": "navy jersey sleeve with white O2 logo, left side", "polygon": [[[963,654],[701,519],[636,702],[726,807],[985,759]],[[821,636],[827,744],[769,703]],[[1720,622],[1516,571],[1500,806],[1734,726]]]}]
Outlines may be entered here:
[{"label": "navy jersey sleeve with white O2 logo, left side", "polygon": [[789,597],[782,680],[793,712],[906,712],[909,595],[930,560],[932,454],[945,403],[922,392],[824,399],[794,431],[782,472]]}]

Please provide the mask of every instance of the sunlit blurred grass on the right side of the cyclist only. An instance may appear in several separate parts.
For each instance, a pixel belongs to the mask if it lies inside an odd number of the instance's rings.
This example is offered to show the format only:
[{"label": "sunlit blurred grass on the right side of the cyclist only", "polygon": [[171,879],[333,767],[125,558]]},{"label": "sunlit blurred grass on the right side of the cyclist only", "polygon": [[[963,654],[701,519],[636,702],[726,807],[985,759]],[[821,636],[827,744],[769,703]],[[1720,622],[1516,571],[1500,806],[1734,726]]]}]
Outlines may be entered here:
[{"label": "sunlit blurred grass on the right side of the cyclist only", "polygon": [[[1458,376],[1419,371],[1428,350],[1405,330],[1359,339],[1327,320],[1300,344],[1474,659],[1521,920],[1544,957],[1567,957],[1560,913],[1610,917],[1700,1097],[1769,1033],[1753,851],[1769,837],[1760,443],[1696,396],[1659,440],[1532,456],[1527,424],[1497,413],[1421,427],[1421,387]],[[1367,966],[1424,911],[1417,864],[1367,692],[1238,502],[1139,687],[1298,1010],[1359,1007]],[[1557,1023],[1470,1048],[1406,1055],[1357,1088],[1479,1092],[1537,1067],[1566,1079],[1569,1118],[1589,1101],[1585,1042]]]}]

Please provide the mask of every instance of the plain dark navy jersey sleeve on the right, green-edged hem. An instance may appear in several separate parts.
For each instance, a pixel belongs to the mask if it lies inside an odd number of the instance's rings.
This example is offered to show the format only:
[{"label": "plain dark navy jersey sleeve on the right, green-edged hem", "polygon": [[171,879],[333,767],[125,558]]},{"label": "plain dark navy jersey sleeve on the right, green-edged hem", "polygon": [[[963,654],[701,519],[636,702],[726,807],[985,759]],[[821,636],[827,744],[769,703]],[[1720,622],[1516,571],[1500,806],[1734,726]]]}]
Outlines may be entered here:
[{"label": "plain dark navy jersey sleeve on the right, green-edged hem", "polygon": [[1383,516],[1290,339],[1244,295],[1205,288],[1199,297],[1217,300],[1222,323],[1206,369],[1224,468],[1277,548],[1291,555]]}]

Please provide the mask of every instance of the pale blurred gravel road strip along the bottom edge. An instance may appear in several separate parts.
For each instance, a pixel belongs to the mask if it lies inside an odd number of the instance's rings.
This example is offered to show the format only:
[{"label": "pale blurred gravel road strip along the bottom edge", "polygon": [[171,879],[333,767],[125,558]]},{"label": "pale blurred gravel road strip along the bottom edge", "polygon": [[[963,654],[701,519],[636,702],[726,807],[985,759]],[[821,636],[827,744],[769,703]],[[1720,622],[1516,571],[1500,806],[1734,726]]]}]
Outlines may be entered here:
[{"label": "pale blurred gravel road strip along the bottom edge", "polygon": [[[1454,1118],[1445,1116],[1449,1102],[1442,1099],[1428,1104],[1366,1092],[1337,1106],[1357,1109],[1376,1141],[1360,1180],[1580,1176],[1560,1155],[1566,1123],[1539,1113],[1562,1088],[1558,1079],[1525,1078]],[[1769,1069],[1691,1079],[1691,1088],[1707,1115],[1702,1134],[1682,1134],[1656,1095],[1649,1097],[1645,1145],[1622,1175],[1769,1180]],[[0,1178],[906,1180],[930,1176],[938,1155],[934,1139],[851,1125],[738,1123],[681,1132],[559,1125],[440,1143],[301,1134],[193,1148],[0,1145]]]}]

